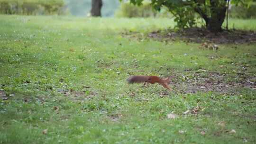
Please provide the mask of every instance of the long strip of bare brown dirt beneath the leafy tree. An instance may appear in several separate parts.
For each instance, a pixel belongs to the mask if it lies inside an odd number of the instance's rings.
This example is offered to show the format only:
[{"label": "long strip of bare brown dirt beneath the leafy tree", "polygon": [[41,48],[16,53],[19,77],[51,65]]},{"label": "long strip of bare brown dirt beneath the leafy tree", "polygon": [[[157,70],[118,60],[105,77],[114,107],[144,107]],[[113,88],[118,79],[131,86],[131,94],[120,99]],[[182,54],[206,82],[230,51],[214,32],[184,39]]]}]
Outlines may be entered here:
[{"label": "long strip of bare brown dirt beneath the leafy tree", "polygon": [[[124,32],[122,35],[130,38],[144,38],[144,36],[140,35],[139,32]],[[256,31],[229,30],[215,34],[211,33],[207,29],[194,27],[183,31],[158,30],[149,33],[147,37],[159,41],[183,40],[185,42],[195,43],[209,42],[215,44],[249,44],[256,42]]]}]

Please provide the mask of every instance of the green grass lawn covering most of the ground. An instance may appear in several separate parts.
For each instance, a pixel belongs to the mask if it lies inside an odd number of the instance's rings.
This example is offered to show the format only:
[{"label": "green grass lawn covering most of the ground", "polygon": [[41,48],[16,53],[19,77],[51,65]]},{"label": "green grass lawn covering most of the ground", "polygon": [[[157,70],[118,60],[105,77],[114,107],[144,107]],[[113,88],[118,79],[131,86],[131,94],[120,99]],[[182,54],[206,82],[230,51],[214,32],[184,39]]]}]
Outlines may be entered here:
[{"label": "green grass lawn covering most of the ground", "polygon": [[[121,36],[124,30],[143,35],[173,27],[170,19],[0,19],[0,89],[9,97],[0,99],[0,144],[256,142],[255,90],[183,94],[158,84],[126,83],[131,74],[190,74],[186,69],[219,72],[227,75],[223,81],[233,82],[243,80],[237,74],[242,71],[252,79],[256,44],[219,45],[211,51],[199,49],[200,44]],[[234,21],[238,29],[256,30],[255,20]],[[197,105],[197,114],[183,115]],[[178,117],[168,119],[169,113]],[[232,129],[236,133],[229,133]]]}]

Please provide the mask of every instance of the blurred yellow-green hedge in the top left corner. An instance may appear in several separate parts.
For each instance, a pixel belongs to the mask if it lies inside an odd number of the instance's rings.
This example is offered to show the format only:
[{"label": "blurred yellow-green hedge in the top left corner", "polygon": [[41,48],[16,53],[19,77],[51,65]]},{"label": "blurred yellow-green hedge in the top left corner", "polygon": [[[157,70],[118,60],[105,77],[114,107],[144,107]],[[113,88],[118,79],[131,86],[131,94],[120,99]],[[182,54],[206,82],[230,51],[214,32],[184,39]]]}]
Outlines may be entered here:
[{"label": "blurred yellow-green hedge in the top left corner", "polygon": [[1,14],[64,15],[63,0],[0,0]]}]

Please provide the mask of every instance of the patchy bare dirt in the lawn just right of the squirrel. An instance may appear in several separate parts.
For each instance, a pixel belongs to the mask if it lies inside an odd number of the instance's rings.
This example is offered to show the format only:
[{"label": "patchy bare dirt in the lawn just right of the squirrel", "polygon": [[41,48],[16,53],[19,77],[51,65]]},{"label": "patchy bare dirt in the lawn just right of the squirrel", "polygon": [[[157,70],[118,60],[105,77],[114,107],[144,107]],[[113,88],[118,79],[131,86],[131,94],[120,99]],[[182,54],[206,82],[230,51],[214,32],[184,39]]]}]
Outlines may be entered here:
[{"label": "patchy bare dirt in the lawn just right of the squirrel", "polygon": [[243,81],[228,82],[227,75],[219,72],[191,72],[184,75],[183,73],[174,73],[174,78],[171,80],[170,86],[176,92],[181,93],[196,93],[199,91],[213,91],[219,93],[229,93],[234,95],[239,88],[250,88],[256,90],[255,77],[247,77]]}]

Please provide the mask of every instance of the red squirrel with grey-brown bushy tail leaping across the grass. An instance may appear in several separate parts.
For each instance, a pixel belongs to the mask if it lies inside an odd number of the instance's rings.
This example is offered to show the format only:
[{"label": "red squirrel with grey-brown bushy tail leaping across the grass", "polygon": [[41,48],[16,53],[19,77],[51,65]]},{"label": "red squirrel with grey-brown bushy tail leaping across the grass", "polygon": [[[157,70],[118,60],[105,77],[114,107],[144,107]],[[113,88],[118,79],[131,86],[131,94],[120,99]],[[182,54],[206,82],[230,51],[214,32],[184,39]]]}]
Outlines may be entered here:
[{"label": "red squirrel with grey-brown bushy tail leaping across the grass", "polygon": [[163,87],[165,87],[168,90],[171,90],[171,88],[168,86],[168,83],[170,83],[170,78],[161,79],[158,76],[146,76],[146,75],[132,75],[128,77],[127,79],[128,83],[143,83],[146,85],[146,82],[154,84],[159,83]]}]

